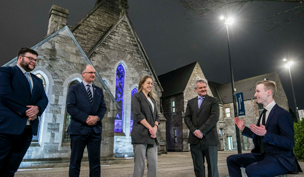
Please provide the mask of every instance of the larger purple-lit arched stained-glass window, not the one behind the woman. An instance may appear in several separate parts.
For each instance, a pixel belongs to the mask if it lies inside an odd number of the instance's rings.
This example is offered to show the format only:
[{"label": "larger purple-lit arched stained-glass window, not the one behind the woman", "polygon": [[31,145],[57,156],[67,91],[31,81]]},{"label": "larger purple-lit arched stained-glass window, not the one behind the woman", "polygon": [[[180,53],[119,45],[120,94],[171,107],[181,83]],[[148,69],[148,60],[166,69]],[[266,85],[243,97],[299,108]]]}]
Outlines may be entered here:
[{"label": "larger purple-lit arched stained-glass window, not the one behind the woman", "polygon": [[119,65],[116,70],[116,90],[115,100],[120,109],[115,117],[114,132],[122,132],[124,119],[124,86],[125,86],[125,69],[123,65]]}]

